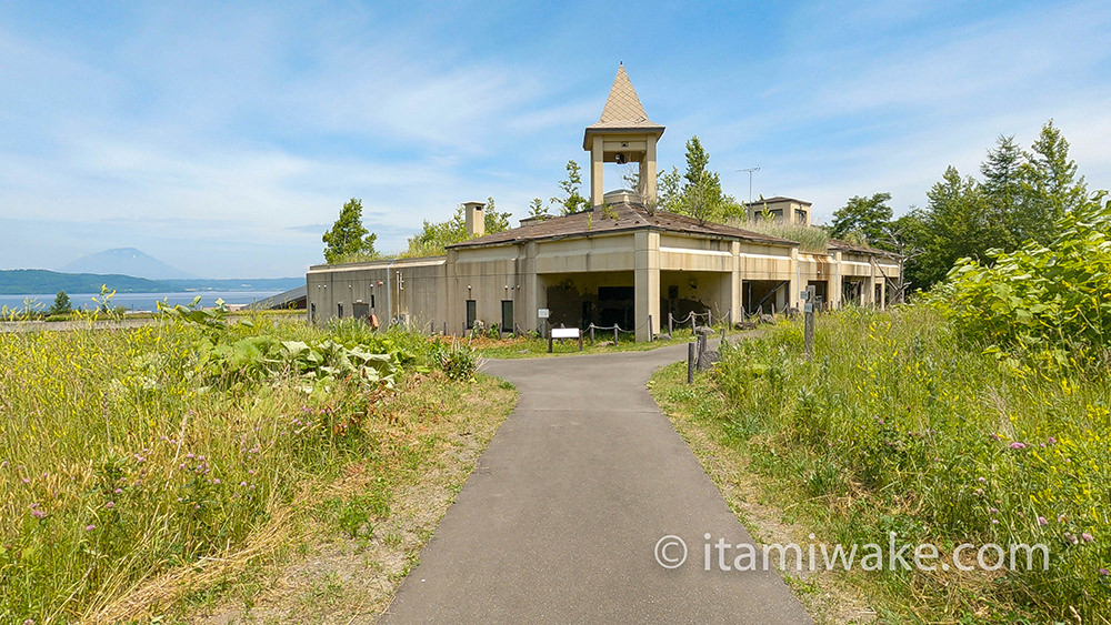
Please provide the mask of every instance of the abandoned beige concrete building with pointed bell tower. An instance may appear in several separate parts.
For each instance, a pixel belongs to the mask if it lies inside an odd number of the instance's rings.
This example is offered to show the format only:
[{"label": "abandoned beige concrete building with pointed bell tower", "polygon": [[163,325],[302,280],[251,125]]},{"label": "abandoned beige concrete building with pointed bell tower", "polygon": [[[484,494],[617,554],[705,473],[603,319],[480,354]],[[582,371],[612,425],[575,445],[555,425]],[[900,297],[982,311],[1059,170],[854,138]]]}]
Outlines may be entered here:
[{"label": "abandoned beige concrete building with pointed bell tower", "polygon": [[[839,241],[804,253],[792,241],[653,210],[663,131],[619,67],[601,119],[583,134],[590,210],[483,234],[484,205],[468,202],[476,238],[443,256],[310,268],[309,319],[372,317],[456,335],[479,320],[504,331],[617,324],[645,341],[669,315],[737,321],[741,311],[799,309],[808,288],[822,306],[883,305],[900,271],[893,254]],[[640,188],[603,193],[605,162],[639,163]],[[783,200],[809,223],[809,203]]]}]

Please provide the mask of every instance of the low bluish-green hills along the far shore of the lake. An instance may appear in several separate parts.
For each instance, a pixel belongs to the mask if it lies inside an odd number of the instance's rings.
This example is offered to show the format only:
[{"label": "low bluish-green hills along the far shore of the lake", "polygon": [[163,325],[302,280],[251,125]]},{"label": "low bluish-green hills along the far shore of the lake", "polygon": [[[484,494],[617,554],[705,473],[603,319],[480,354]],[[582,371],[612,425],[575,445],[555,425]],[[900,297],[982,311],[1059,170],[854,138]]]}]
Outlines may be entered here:
[{"label": "low bluish-green hills along the far shore of the lake", "polygon": [[99,293],[107,284],[120,293],[183,293],[201,291],[289,291],[304,286],[304,278],[254,278],[233,280],[148,280],[132,275],[59,273],[44,269],[0,270],[0,295]]}]

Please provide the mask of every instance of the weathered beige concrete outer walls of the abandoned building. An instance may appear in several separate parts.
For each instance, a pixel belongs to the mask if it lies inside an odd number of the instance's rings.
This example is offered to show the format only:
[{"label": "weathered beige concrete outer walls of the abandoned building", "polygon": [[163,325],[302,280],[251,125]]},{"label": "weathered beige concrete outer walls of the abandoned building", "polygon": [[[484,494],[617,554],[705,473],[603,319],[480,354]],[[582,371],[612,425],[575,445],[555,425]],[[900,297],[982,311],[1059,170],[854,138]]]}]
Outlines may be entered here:
[{"label": "weathered beige concrete outer walls of the abandoned building", "polygon": [[467,248],[433,259],[318,265],[310,269],[306,283],[310,315],[317,323],[336,316],[340,305],[343,316],[351,316],[353,305],[362,302],[382,323],[400,314],[436,332],[446,324],[449,334],[458,335],[463,333],[467,300],[474,300],[477,319],[487,324],[500,324],[502,302],[511,301],[513,321],[523,330],[537,330],[537,313],[547,306],[551,284],[571,280],[597,292],[599,285],[628,281],[638,293],[638,340],[647,340],[667,324],[667,293],[672,285],[680,289],[681,299],[704,302],[721,319],[727,311],[741,309],[750,281],[789,282],[769,301],[777,310],[801,306],[799,291],[811,281],[827,282],[831,305],[842,304],[845,281],[861,283],[862,303],[882,305],[874,293],[877,286],[883,293],[889,289],[884,273],[898,280],[898,262],[853,252],[809,254],[799,253],[798,248],[645,230]]}]

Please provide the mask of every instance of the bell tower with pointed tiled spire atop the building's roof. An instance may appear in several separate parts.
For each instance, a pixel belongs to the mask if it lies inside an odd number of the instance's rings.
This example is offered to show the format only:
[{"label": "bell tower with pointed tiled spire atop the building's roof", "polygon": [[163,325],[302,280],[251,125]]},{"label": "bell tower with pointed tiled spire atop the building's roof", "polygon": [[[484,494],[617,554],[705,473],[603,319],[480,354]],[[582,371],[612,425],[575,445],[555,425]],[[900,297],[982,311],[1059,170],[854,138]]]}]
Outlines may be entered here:
[{"label": "bell tower with pointed tiled spire atop the building's roof", "polygon": [[640,168],[637,193],[645,206],[654,206],[655,142],[662,135],[663,127],[648,119],[624,64],[619,64],[602,117],[582,137],[582,149],[590,152],[590,205],[597,209],[603,203],[602,163],[635,162]]}]

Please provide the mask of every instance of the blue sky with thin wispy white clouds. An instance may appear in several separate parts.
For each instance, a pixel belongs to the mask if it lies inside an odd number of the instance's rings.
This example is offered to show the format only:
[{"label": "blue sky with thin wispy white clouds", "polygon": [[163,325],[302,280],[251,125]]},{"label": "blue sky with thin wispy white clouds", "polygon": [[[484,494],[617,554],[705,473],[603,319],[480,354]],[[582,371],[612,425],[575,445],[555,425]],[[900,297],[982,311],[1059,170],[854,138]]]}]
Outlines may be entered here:
[{"label": "blue sky with thin wispy white clouds", "polygon": [[817,221],[923,205],[1050,118],[1111,187],[1105,0],[868,4],[0,3],[0,269],[133,246],[298,275],[352,196],[384,250],[472,199],[523,216],[585,161],[619,61],[661,167],[698,134],[727,192],[759,165]]}]

